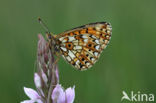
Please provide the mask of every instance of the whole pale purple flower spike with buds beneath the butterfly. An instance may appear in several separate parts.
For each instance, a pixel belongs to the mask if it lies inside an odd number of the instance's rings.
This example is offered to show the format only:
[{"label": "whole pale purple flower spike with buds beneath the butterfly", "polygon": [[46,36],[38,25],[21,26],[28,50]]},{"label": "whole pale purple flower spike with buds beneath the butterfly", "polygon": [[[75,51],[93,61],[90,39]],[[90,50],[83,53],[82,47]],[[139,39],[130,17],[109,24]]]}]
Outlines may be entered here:
[{"label": "whole pale purple flower spike with buds beneath the butterfly", "polygon": [[36,91],[24,87],[30,100],[21,103],[73,103],[75,87],[64,90],[59,84],[59,71],[49,43],[38,35],[37,71],[34,73]]}]

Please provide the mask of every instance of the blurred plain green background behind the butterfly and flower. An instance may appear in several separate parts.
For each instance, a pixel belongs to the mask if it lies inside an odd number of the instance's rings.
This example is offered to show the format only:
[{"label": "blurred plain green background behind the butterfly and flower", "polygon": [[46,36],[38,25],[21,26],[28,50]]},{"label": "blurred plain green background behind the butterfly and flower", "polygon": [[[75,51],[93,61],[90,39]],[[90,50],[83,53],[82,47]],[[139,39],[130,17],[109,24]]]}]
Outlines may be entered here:
[{"label": "blurred plain green background behind the butterfly and flower", "polygon": [[59,61],[60,83],[76,86],[75,103],[120,103],[123,90],[156,95],[155,11],[155,0],[1,0],[0,103],[19,103],[28,99],[24,86],[35,89],[37,34],[45,34],[39,16],[55,34],[112,24],[111,42],[90,70]]}]

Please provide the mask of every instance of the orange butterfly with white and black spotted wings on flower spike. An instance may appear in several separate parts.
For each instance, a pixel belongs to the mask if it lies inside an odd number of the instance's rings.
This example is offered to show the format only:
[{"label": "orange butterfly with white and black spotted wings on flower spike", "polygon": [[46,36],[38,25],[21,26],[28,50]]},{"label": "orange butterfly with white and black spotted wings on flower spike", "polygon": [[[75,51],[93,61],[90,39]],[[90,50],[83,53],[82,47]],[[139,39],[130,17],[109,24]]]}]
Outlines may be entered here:
[{"label": "orange butterfly with white and black spotted wings on flower spike", "polygon": [[48,33],[50,48],[78,70],[87,70],[99,59],[111,39],[112,27],[107,22],[90,23],[58,35]]}]

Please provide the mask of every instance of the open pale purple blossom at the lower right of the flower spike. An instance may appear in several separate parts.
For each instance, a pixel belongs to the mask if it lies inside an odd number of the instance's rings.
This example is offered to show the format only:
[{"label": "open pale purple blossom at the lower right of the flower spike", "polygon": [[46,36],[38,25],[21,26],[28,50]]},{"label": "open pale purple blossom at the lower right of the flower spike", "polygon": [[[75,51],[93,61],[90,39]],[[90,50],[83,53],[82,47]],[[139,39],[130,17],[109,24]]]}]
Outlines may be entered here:
[{"label": "open pale purple blossom at the lower right of the flower spike", "polygon": [[52,93],[53,103],[73,103],[75,99],[75,87],[66,90],[57,84]]}]

